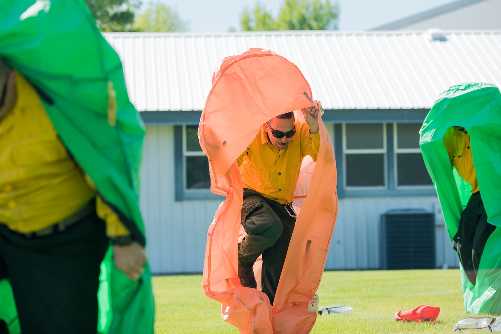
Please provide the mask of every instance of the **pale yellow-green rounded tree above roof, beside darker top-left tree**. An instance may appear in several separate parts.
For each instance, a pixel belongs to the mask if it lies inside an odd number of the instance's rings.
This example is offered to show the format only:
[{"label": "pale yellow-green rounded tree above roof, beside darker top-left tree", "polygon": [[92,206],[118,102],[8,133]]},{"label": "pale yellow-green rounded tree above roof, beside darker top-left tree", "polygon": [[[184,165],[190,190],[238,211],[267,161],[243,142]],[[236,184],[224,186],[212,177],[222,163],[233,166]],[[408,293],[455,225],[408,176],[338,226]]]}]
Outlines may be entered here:
[{"label": "pale yellow-green rounded tree above roof, beside darker top-left tree", "polygon": [[147,8],[138,14],[133,29],[143,32],[184,32],[189,23],[183,21],[177,11],[161,3],[148,3]]}]

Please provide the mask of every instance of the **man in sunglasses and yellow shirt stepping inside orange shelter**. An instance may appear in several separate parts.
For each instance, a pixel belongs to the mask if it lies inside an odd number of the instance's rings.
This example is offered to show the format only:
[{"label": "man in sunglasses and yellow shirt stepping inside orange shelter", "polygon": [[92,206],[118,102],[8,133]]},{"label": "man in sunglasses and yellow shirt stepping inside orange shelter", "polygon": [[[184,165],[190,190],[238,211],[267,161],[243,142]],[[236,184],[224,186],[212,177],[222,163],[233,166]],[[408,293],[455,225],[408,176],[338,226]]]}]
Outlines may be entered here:
[{"label": "man in sunglasses and yellow shirt stepping inside orange shelter", "polygon": [[262,255],[261,290],[272,305],[296,222],[291,203],[301,162],[306,155],[316,161],[320,146],[319,109],[302,111],[306,124],[295,121],[293,112],[263,124],[238,159],[247,233],[238,245],[238,276],[243,286],[256,288],[252,267]]}]

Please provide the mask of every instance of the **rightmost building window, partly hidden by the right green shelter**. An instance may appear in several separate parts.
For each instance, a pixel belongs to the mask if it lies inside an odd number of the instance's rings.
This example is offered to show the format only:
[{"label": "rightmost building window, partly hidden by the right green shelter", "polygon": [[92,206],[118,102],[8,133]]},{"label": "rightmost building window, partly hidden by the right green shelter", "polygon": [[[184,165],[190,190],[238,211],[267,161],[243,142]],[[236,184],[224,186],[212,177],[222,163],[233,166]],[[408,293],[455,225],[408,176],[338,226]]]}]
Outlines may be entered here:
[{"label": "rightmost building window, partly hidden by the right green shelter", "polygon": [[419,148],[419,129],[422,124],[395,124],[395,184],[397,188],[433,186],[431,178],[424,165]]}]

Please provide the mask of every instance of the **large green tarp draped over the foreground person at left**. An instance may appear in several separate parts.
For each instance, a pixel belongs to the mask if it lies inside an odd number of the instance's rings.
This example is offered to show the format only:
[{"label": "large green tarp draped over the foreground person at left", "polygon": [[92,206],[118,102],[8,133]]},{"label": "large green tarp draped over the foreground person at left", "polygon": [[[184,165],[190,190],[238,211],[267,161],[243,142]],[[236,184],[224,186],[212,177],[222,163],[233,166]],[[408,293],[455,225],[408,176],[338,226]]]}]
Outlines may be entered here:
[{"label": "large green tarp draped over the foreground person at left", "polygon": [[[36,88],[68,151],[144,245],[139,210],[144,125],[129,101],[122,63],[84,1],[3,0],[0,54]],[[99,332],[152,333],[149,267],[131,282],[114,267],[110,248],[101,269]],[[6,280],[0,282],[0,300],[0,318],[19,333]]]}]

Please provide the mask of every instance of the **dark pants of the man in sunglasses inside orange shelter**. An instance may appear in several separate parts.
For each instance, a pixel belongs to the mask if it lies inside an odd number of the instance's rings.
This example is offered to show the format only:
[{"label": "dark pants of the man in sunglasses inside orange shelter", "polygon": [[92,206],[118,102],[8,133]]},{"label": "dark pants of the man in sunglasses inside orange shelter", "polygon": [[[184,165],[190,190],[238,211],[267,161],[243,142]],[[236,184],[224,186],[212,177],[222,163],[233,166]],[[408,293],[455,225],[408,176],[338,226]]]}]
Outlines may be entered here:
[{"label": "dark pants of the man in sunglasses inside orange shelter", "polygon": [[261,291],[272,305],[295,223],[296,218],[289,216],[282,204],[244,189],[242,225],[247,236],[239,245],[238,265],[252,267],[263,255]]}]

